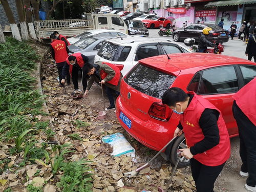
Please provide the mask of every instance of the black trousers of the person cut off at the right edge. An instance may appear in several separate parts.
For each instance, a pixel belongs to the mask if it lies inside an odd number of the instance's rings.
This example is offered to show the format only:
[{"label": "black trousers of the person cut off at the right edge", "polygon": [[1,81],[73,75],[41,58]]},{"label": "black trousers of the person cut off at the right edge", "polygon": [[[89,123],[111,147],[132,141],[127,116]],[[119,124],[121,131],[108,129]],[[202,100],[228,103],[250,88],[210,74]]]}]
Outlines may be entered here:
[{"label": "black trousers of the person cut off at the right edge", "polygon": [[237,120],[242,172],[249,173],[247,185],[256,186],[256,126],[241,111],[236,101],[232,106],[233,116]]}]

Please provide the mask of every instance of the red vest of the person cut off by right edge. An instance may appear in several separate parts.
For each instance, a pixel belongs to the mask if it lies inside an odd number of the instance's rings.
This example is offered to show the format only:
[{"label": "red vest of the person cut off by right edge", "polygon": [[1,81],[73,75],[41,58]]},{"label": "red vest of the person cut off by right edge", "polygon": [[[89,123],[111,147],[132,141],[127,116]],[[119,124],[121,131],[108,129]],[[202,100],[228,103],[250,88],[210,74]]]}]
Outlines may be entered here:
[{"label": "red vest of the person cut off by right edge", "polygon": [[241,111],[256,126],[256,78],[252,79],[241,90],[233,95]]}]

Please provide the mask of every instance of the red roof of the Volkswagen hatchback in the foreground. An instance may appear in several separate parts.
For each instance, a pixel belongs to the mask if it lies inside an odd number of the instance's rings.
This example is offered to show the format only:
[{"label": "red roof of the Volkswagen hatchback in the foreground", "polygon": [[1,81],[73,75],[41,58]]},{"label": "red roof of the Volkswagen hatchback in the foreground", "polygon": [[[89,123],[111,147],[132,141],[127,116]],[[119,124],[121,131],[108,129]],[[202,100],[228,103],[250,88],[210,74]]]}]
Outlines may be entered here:
[{"label": "red roof of the Volkswagen hatchback in the foreground", "polygon": [[210,67],[234,64],[255,65],[254,62],[246,59],[211,53],[175,53],[169,54],[168,56],[170,59],[167,59],[166,55],[160,55],[139,61],[147,66],[152,66],[166,72],[172,72],[175,75],[178,75],[180,70],[187,69],[203,70]]}]

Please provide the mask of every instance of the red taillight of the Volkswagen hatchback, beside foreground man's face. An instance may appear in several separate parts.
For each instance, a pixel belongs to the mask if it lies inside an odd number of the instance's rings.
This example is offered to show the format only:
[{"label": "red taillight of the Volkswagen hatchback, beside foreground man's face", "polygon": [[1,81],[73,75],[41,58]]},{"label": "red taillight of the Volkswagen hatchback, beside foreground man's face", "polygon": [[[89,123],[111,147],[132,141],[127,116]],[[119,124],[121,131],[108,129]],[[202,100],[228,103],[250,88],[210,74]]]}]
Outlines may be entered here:
[{"label": "red taillight of the Volkswagen hatchback, beside foreground man's face", "polygon": [[148,114],[154,119],[158,119],[160,121],[168,121],[172,115],[172,110],[161,102],[154,102],[151,105]]}]

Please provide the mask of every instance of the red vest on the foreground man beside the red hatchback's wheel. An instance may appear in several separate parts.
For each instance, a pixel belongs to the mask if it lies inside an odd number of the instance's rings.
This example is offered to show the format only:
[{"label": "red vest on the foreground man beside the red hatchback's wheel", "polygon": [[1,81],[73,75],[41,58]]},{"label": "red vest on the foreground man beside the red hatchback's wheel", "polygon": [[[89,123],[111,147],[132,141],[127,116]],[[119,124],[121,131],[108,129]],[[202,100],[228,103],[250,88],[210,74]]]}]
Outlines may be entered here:
[{"label": "red vest on the foreground man beside the red hatchback's wheel", "polygon": [[207,166],[218,166],[228,160],[230,156],[230,140],[226,124],[220,110],[206,99],[197,96],[194,92],[189,92],[194,97],[189,103],[183,115],[180,115],[180,122],[183,126],[186,143],[188,147],[204,139],[202,129],[199,125],[199,119],[205,109],[214,109],[220,113],[217,121],[220,134],[220,143],[204,153],[195,155],[193,158]]}]

